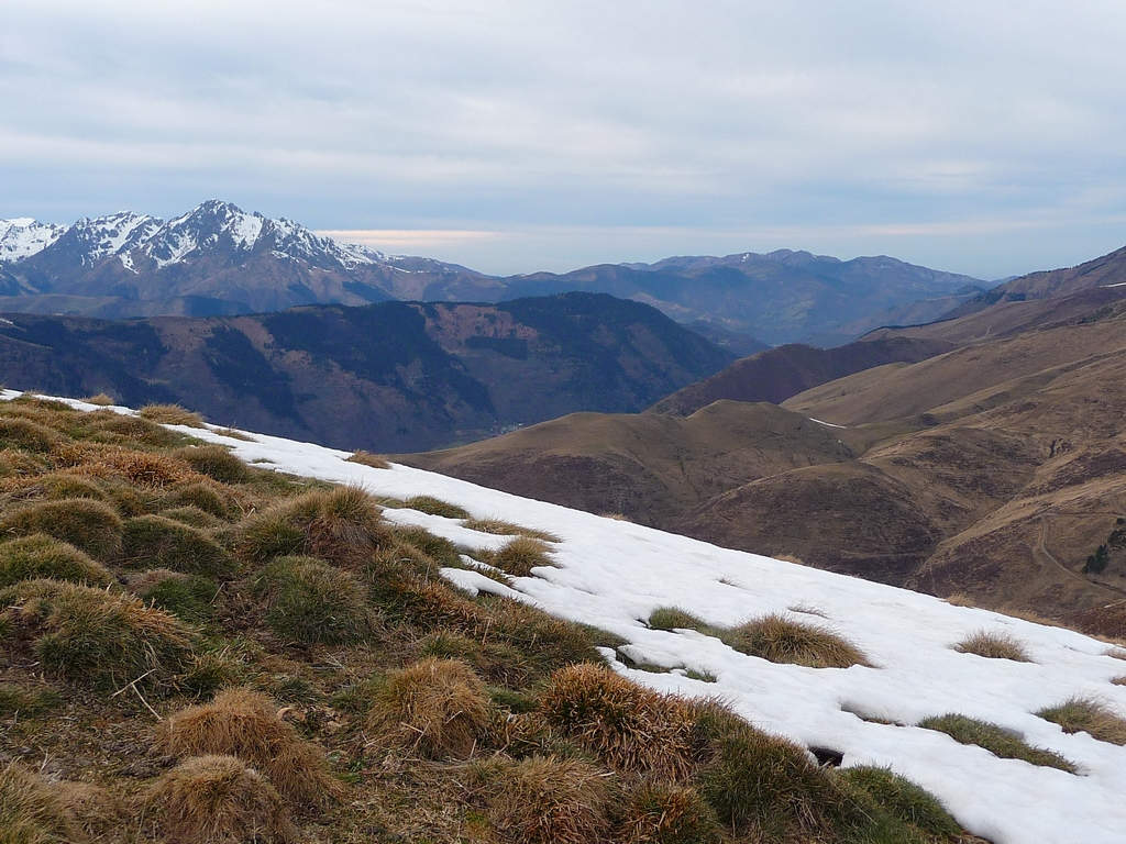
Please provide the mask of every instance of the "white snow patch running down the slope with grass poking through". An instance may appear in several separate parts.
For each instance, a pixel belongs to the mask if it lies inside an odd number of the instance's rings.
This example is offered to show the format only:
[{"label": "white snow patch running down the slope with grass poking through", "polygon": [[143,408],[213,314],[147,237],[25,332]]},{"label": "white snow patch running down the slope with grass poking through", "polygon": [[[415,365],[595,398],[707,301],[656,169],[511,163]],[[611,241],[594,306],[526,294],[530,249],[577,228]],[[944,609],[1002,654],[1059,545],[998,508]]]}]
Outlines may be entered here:
[{"label": "white snow patch running down the slope with grass poking through", "polygon": [[[0,397],[15,395],[7,392]],[[1126,662],[1108,656],[1103,643],[405,466],[374,469],[346,463],[346,451],[261,434],[248,434],[252,441],[242,441],[218,429],[177,430],[230,446],[243,459],[266,467],[361,484],[379,495],[434,495],[474,517],[498,517],[551,531],[562,539],[554,547],[558,567],[515,578],[512,590],[473,572],[448,569],[447,576],[466,589],[509,594],[615,632],[629,643],[623,650],[635,663],[674,670],[633,671],[615,658],[615,668],[638,683],[681,694],[720,695],[762,729],[842,753],[844,765],[890,766],[937,794],[967,829],[997,844],[1126,841],[1126,748],[1087,734],[1066,735],[1033,715],[1076,695],[1126,715],[1126,686],[1110,682],[1126,674]],[[412,510],[387,510],[386,517],[426,527],[470,549],[504,541],[467,530],[457,520]],[[716,626],[767,612],[828,623],[861,647],[876,667],[776,665],[695,631],[651,630],[644,619],[661,607],[679,607]],[[1012,635],[1033,662],[986,659],[951,648],[982,629]],[[691,680],[683,675],[686,670],[716,681]],[[1060,753],[1079,773],[1001,760],[933,730],[864,719],[914,725],[948,712],[1008,728],[1033,745]]]}]

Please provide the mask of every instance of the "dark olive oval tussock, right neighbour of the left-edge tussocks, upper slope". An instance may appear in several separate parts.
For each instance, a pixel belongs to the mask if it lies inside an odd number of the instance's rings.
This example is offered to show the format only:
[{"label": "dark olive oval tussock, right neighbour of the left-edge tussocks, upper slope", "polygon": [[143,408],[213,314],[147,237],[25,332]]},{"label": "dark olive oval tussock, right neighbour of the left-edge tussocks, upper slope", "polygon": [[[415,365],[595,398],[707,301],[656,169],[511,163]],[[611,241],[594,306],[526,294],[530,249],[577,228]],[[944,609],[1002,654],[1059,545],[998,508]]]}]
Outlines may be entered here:
[{"label": "dark olive oval tussock, right neighbour of the left-edge tussocks, upper slope", "polygon": [[197,528],[162,515],[129,519],[122,529],[125,565],[168,568],[225,580],[238,568],[234,557]]}]

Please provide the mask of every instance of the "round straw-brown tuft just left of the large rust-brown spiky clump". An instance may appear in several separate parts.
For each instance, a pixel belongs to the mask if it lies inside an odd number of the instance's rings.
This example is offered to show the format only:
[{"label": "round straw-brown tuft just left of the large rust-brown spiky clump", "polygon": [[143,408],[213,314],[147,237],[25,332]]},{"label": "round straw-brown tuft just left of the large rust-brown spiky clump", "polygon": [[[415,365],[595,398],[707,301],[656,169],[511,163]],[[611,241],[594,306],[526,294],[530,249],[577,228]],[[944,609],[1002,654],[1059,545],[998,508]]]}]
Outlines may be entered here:
[{"label": "round straw-brown tuft just left of the large rust-brown spiky clump", "polygon": [[468,758],[492,724],[484,683],[458,659],[392,672],[372,695],[370,731],[425,758]]}]

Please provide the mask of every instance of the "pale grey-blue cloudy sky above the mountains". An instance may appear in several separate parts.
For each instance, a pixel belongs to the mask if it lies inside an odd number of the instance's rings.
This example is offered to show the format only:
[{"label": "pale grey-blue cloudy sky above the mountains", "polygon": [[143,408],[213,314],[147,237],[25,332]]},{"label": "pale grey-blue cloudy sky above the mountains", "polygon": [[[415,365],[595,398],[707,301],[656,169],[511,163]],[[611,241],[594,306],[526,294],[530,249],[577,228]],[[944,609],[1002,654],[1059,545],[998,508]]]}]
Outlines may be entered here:
[{"label": "pale grey-blue cloudy sky above the mountains", "polygon": [[999,278],[1126,244],[1124,44],[1121,0],[0,0],[0,217]]}]

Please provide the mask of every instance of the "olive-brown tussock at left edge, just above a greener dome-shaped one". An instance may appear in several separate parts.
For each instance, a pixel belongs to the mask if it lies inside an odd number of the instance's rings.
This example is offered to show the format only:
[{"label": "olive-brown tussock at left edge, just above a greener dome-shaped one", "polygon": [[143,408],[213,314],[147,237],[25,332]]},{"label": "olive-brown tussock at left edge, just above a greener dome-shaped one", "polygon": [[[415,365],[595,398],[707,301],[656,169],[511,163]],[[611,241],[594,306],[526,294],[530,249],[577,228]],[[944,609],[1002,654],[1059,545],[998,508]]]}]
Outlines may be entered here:
[{"label": "olive-brown tussock at left edge, just above a greener dome-shaped one", "polygon": [[100,501],[63,499],[26,504],[0,520],[0,536],[46,533],[98,559],[113,556],[120,546],[122,520]]}]

